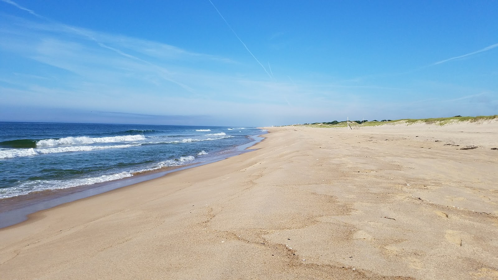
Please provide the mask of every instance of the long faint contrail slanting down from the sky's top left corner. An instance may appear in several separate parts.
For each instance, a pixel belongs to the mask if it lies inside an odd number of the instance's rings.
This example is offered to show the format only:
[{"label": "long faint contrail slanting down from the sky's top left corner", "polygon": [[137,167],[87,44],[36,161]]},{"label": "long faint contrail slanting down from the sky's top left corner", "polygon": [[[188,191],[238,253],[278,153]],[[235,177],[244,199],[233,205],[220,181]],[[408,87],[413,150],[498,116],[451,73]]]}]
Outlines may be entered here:
[{"label": "long faint contrail slanting down from the sky's top left corner", "polygon": [[[21,9],[21,10],[25,10],[25,11],[29,12],[30,14],[32,14],[32,15],[34,15],[34,16],[37,16],[37,17],[39,17],[39,18],[41,18],[41,19],[45,19],[45,20],[50,21],[50,22],[52,22],[52,23],[56,23],[54,20],[51,20],[51,19],[49,19],[49,18],[46,18],[46,17],[44,17],[44,16],[42,16],[42,15],[39,15],[39,14],[37,14],[36,12],[34,12],[33,10],[30,10],[30,9],[28,9],[28,8],[25,8],[25,7],[23,7],[23,6],[19,5],[19,4],[17,4],[17,3],[16,3],[16,2],[14,2],[14,1],[11,1],[11,0],[0,0],[0,1],[5,2],[5,3],[8,3],[8,4],[11,4],[11,5],[13,5],[13,6],[15,6],[15,7],[19,8],[19,9]],[[58,24],[61,24],[61,25],[62,25],[62,26],[64,26],[65,28],[68,28],[69,30],[71,30],[71,31],[73,31],[73,32],[79,33],[79,34],[81,34],[81,35],[83,35],[83,36],[87,37],[88,39],[90,39],[90,40],[94,41],[95,43],[97,43],[100,47],[103,47],[103,48],[106,48],[106,49],[112,50],[112,51],[114,51],[114,52],[116,52],[116,53],[118,53],[118,54],[120,54],[120,55],[123,55],[124,57],[130,58],[130,59],[135,59],[135,60],[138,60],[138,61],[140,61],[140,62],[146,63],[146,64],[148,64],[148,65],[150,65],[150,66],[156,67],[158,70],[161,70],[162,72],[165,72],[166,74],[169,74],[169,73],[168,73],[168,71],[167,71],[166,69],[164,69],[163,67],[157,66],[157,65],[155,65],[155,64],[153,64],[153,63],[151,63],[151,62],[149,62],[149,61],[143,60],[143,59],[138,58],[138,57],[136,57],[136,56],[133,56],[133,55],[131,55],[131,54],[127,54],[127,53],[125,53],[124,51],[121,51],[121,50],[119,50],[119,49],[117,49],[117,48],[113,48],[113,47],[108,46],[108,45],[106,45],[106,44],[104,44],[104,43],[101,43],[101,42],[100,42],[100,41],[98,41],[95,37],[93,37],[92,35],[90,35],[90,34],[88,34],[88,33],[84,32],[84,31],[83,31],[83,30],[81,30],[81,29],[78,29],[78,28],[75,28],[75,27],[72,27],[72,26],[69,26],[69,25],[66,25],[66,24],[62,24],[62,23],[58,23]],[[189,87],[189,86],[187,86],[187,85],[185,85],[185,84],[183,84],[183,83],[179,83],[179,82],[174,81],[174,80],[172,80],[172,79],[170,79],[170,78],[168,78],[168,77],[164,77],[164,76],[162,76],[162,77],[163,77],[165,80],[170,81],[170,82],[172,82],[173,84],[176,84],[176,85],[178,85],[178,86],[180,86],[180,87],[182,87],[182,88],[186,89],[186,90],[187,90],[187,91],[189,91],[189,92],[195,93],[195,91],[194,91],[191,87]]]}]

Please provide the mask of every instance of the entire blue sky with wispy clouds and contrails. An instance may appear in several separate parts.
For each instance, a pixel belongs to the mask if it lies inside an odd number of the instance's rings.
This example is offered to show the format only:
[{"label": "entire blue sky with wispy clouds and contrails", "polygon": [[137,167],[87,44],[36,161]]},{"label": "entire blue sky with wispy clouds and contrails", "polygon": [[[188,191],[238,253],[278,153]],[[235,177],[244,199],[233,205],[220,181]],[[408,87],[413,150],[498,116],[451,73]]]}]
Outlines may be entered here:
[{"label": "entire blue sky with wispy clouds and contrails", "polygon": [[498,114],[498,1],[211,1],[0,0],[0,121]]}]

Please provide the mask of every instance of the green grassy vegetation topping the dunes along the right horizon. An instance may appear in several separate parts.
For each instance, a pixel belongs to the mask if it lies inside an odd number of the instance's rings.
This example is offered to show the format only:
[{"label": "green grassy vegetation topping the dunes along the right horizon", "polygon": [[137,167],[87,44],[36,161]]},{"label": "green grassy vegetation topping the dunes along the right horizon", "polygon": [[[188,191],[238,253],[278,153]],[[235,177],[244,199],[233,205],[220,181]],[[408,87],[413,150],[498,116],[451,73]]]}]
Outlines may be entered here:
[{"label": "green grassy vegetation topping the dunes along the right horizon", "polygon": [[[462,116],[455,116],[451,118],[430,118],[430,119],[402,119],[402,120],[382,120],[382,121],[367,121],[365,120],[363,122],[363,126],[366,127],[373,127],[373,126],[381,126],[381,125],[386,125],[386,124],[397,124],[397,123],[404,123],[406,125],[413,125],[416,123],[425,123],[428,125],[439,125],[439,126],[444,126],[449,123],[455,123],[455,122],[481,122],[481,121],[487,121],[487,120],[498,120],[498,115],[493,115],[493,116],[477,116],[477,117],[462,117]],[[332,122],[323,122],[323,123],[313,123],[313,124],[304,124],[303,126],[306,127],[313,127],[313,128],[345,128],[346,127],[346,122],[347,121],[332,121]],[[355,126],[361,126],[362,121],[349,121],[350,126],[355,127]]]}]

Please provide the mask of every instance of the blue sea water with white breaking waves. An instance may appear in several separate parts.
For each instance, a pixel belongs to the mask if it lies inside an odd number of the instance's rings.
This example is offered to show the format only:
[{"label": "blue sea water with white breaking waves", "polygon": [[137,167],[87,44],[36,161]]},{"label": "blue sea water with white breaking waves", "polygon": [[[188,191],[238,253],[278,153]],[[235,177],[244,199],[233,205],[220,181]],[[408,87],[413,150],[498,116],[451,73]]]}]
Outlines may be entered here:
[{"label": "blue sea water with white breaking waves", "polygon": [[262,130],[0,122],[0,198],[210,161]]}]

